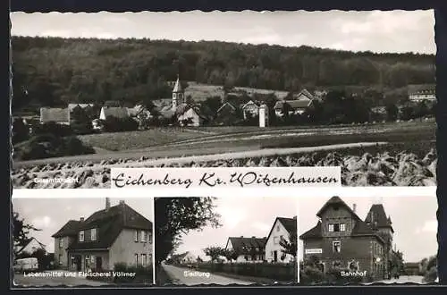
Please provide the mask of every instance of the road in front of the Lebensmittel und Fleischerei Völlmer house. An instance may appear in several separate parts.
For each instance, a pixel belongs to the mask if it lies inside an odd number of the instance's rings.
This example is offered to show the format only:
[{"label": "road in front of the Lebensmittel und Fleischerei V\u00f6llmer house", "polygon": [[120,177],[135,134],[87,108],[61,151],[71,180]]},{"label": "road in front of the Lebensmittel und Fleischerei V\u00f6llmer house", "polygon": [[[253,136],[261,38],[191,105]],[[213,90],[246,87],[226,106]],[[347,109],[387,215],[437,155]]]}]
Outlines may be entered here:
[{"label": "road in front of the Lebensmittel und Fleischerei V\u00f6llmer house", "polygon": [[[80,286],[80,285],[88,285],[88,286],[104,286],[107,283],[105,282],[97,282],[97,281],[91,281],[87,280],[84,277],[81,276],[75,276],[75,277],[67,277],[65,274],[68,272],[66,271],[55,271],[57,273],[62,273],[62,276],[56,276],[53,275],[51,277],[30,277],[25,276],[24,274],[14,274],[13,282],[16,286],[30,286],[30,287],[38,287],[38,286]],[[46,271],[44,273],[50,273],[49,271]]]}]

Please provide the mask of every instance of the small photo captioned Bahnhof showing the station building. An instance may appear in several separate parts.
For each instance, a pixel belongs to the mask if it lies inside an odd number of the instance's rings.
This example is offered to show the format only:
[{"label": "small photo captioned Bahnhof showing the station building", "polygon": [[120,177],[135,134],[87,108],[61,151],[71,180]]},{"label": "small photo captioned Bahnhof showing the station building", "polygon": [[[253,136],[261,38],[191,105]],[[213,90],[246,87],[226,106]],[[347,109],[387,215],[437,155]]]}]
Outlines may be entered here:
[{"label": "small photo captioned Bahnhof showing the station building", "polygon": [[299,198],[299,282],[437,282],[437,200]]}]

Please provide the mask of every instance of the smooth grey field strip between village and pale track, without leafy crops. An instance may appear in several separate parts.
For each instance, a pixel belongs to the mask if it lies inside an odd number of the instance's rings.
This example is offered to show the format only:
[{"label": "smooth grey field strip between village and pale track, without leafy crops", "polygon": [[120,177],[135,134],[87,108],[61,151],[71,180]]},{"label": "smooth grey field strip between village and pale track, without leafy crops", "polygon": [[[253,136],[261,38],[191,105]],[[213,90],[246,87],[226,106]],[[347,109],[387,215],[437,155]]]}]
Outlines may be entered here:
[{"label": "smooth grey field strip between village and pale track, without leafy crops", "polygon": [[[148,131],[131,131],[83,135],[85,144],[108,151],[148,151],[200,149],[216,147],[238,151],[246,147],[316,147],[359,141],[410,142],[434,140],[434,122],[376,123],[368,125],[341,125],[317,127],[274,127],[259,129],[246,127],[155,128]],[[158,148],[156,148],[158,147]],[[179,155],[177,155],[179,156]]]}]

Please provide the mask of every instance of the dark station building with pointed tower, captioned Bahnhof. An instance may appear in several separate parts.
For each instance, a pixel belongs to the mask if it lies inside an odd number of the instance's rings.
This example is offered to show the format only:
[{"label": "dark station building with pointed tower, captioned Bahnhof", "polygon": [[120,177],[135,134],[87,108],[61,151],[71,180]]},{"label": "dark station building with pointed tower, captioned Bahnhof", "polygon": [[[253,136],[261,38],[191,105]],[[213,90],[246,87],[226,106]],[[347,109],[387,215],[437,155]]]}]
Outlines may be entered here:
[{"label": "dark station building with pointed tower, captioned Bahnhof", "polygon": [[330,198],[317,212],[316,225],[299,237],[303,240],[303,257],[317,257],[323,272],[331,269],[367,271],[376,280],[390,276],[389,249],[392,249],[392,223],[384,206],[371,207],[362,220],[356,206],[341,198]]}]

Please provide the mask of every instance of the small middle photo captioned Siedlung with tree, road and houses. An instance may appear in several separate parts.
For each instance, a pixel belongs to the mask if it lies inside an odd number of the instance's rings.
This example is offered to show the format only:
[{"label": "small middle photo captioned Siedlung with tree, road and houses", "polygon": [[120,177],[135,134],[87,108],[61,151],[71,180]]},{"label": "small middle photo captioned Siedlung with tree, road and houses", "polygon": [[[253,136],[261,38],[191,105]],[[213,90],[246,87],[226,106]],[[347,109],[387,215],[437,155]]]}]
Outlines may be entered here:
[{"label": "small middle photo captioned Siedlung with tree, road and houses", "polygon": [[297,198],[155,198],[157,285],[298,282]]}]

